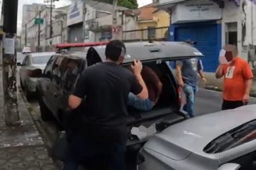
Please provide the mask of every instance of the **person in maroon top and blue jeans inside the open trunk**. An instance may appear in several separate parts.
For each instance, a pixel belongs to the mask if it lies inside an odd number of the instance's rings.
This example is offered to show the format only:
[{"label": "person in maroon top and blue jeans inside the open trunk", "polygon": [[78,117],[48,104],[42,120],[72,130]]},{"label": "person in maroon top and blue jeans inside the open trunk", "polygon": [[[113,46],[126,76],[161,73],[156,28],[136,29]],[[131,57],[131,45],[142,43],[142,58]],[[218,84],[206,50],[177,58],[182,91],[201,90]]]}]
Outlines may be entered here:
[{"label": "person in maroon top and blue jeans inside the open trunk", "polygon": [[163,84],[155,71],[148,66],[143,66],[141,74],[147,86],[148,99],[140,99],[130,92],[127,105],[141,111],[150,111],[158,103]]}]

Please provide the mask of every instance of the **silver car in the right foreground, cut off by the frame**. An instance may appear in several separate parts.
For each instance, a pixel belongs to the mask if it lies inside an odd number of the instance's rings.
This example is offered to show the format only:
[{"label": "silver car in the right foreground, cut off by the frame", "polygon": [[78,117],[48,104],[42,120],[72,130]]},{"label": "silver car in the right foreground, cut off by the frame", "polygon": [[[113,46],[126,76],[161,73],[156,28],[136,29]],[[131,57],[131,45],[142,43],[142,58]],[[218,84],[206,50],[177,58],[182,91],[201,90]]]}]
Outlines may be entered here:
[{"label": "silver car in the right foreground, cut off by the frame", "polygon": [[155,134],[139,170],[256,169],[256,105],[195,117]]}]

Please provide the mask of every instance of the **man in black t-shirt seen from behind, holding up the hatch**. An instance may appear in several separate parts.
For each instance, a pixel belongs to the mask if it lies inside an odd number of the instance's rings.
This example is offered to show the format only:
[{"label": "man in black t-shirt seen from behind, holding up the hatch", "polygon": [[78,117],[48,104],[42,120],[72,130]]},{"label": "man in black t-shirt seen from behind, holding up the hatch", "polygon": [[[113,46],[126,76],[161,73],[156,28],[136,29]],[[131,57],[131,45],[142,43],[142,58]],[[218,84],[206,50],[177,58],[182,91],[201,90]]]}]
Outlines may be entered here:
[{"label": "man in black t-shirt seen from behind, holding up the hatch", "polygon": [[69,107],[79,108],[81,118],[71,133],[65,170],[77,169],[80,162],[92,164],[93,169],[125,169],[128,94],[148,98],[142,63],[134,61],[131,73],[120,66],[125,53],[122,41],[110,41],[106,61],[85,69],[69,97]]}]

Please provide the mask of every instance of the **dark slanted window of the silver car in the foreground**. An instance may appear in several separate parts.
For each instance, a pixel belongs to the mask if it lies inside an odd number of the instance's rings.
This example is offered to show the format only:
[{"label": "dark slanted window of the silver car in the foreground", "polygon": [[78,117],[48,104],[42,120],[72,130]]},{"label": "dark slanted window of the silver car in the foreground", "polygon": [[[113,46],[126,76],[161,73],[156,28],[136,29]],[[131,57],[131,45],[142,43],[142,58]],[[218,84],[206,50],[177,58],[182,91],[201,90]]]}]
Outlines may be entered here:
[{"label": "dark slanted window of the silver car in the foreground", "polygon": [[208,154],[224,152],[255,139],[256,120],[238,126],[237,128],[232,129],[220,137],[214,139],[204,148],[204,152]]}]

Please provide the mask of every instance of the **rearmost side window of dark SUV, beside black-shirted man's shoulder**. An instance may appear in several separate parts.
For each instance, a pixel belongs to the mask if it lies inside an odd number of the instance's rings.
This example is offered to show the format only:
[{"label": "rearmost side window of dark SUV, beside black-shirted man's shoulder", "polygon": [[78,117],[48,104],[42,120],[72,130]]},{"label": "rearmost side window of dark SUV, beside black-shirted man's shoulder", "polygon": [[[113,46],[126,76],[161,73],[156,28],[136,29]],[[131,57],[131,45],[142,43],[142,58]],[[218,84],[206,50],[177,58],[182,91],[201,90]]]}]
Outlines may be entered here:
[{"label": "rearmost side window of dark SUV, beside black-shirted man's shoulder", "polygon": [[68,58],[63,70],[63,88],[66,91],[71,91],[76,83],[77,76],[81,72],[81,58]]}]

